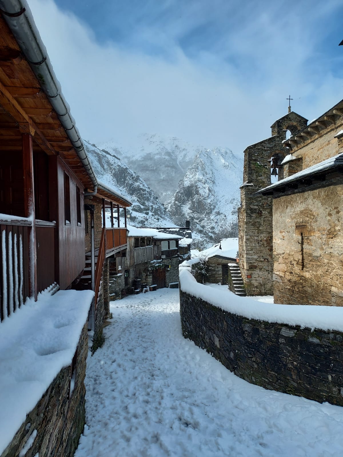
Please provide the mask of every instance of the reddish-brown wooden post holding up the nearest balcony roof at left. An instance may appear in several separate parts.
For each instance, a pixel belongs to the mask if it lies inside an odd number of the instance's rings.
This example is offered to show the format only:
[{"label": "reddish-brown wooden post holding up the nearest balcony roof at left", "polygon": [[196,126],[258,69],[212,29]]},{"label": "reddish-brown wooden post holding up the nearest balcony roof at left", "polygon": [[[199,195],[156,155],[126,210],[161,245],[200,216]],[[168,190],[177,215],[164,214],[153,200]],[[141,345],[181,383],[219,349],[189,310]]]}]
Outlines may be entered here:
[{"label": "reddish-brown wooden post holding up the nearest balcony roof at left", "polygon": [[24,175],[24,211],[26,218],[32,218],[32,226],[29,236],[29,293],[30,297],[37,300],[38,276],[37,276],[37,246],[36,246],[36,222],[35,201],[33,182],[33,150],[32,136],[30,133],[21,134],[21,149]]}]

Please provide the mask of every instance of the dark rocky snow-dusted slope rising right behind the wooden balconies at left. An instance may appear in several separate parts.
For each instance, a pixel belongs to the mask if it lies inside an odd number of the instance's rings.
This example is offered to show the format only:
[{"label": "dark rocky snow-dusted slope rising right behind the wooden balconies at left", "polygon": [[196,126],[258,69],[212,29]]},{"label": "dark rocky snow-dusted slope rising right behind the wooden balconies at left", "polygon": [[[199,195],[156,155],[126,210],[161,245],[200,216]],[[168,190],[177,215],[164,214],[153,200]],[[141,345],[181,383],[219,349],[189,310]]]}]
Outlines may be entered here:
[{"label": "dark rocky snow-dusted slope rising right behind the wooden balconies at left", "polygon": [[129,208],[130,224],[140,227],[172,227],[174,224],[154,192],[139,175],[111,154],[106,154],[84,140],[84,145],[97,178],[117,189],[133,203]]}]

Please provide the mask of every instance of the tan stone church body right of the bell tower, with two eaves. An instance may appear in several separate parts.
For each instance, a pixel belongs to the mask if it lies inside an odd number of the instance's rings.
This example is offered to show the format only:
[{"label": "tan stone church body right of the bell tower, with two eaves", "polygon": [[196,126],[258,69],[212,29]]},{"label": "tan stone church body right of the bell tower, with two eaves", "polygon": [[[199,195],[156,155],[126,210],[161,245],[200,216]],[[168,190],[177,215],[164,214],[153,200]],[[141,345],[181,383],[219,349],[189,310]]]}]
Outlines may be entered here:
[{"label": "tan stone church body right of the bell tower, with two eaves", "polygon": [[256,197],[273,202],[274,302],[343,306],[343,101],[284,149],[283,179]]}]

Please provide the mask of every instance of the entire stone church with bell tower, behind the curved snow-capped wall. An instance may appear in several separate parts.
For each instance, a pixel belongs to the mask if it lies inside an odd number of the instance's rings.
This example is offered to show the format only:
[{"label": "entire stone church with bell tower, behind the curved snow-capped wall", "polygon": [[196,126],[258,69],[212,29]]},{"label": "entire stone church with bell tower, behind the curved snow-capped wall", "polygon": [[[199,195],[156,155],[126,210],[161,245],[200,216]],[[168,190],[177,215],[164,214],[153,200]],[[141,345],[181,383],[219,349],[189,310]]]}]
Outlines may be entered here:
[{"label": "entire stone church with bell tower, behind the curved snow-capped wall", "polygon": [[309,124],[289,112],[272,135],[245,150],[238,213],[247,292],[343,306],[343,101]]}]

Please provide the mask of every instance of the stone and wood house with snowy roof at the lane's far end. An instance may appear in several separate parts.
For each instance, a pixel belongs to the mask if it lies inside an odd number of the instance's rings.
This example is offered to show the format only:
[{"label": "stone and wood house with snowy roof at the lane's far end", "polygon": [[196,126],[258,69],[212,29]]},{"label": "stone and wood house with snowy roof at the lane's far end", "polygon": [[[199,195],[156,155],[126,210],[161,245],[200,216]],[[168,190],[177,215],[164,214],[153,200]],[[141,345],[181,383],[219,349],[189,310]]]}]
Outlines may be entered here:
[{"label": "stone and wood house with snowy roof at the lane's far end", "polygon": [[186,227],[129,227],[124,256],[110,260],[110,299],[161,287],[178,287],[178,267],[190,258],[192,233]]}]

